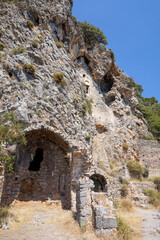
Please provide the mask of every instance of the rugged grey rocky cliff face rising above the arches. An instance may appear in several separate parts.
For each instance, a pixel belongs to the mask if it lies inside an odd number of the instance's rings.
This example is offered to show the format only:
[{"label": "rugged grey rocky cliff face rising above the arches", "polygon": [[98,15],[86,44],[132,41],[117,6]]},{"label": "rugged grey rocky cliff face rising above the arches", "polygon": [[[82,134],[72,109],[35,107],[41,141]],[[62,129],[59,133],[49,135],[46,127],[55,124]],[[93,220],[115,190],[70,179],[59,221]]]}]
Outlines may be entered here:
[{"label": "rugged grey rocky cliff face rising above the arches", "polygon": [[[109,173],[125,167],[126,160],[140,160],[137,140],[148,130],[138,118],[128,84],[132,80],[111,50],[86,49],[72,18],[72,1],[0,4],[0,42],[5,45],[0,112],[13,111],[26,132],[49,129],[71,149],[81,149],[91,172]],[[55,73],[63,74],[64,84],[56,82]]]}]

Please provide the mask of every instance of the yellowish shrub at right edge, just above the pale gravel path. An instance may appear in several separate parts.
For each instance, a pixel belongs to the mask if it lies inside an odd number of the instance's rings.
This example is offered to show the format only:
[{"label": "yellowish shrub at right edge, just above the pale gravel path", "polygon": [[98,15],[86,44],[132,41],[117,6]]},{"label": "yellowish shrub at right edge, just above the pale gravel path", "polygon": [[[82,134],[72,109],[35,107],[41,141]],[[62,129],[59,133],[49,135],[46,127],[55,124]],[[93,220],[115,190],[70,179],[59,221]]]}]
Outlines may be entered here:
[{"label": "yellowish shrub at right edge, just above the pale gravel path", "polygon": [[144,191],[144,194],[148,196],[150,204],[154,205],[155,207],[160,206],[160,192],[148,188]]}]

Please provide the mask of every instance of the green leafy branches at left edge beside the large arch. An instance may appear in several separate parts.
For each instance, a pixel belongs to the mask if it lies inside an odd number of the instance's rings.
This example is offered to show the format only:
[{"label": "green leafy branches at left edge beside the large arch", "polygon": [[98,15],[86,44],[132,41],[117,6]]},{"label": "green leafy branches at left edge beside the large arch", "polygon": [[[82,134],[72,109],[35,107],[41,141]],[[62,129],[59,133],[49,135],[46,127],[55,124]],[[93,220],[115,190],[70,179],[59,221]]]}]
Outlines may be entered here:
[{"label": "green leafy branches at left edge beside the large arch", "polygon": [[13,113],[6,113],[0,116],[0,164],[8,172],[13,171],[15,156],[9,155],[6,148],[14,143],[26,144],[23,125]]}]

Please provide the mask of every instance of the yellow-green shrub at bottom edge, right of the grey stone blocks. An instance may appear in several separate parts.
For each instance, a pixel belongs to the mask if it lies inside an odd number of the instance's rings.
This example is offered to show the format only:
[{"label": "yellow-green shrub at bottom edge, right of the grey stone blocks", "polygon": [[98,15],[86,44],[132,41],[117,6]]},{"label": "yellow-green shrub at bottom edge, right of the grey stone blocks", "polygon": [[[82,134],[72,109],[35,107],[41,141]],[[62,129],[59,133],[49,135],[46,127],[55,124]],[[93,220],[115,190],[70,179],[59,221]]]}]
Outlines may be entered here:
[{"label": "yellow-green shrub at bottom edge, right of the grey stone blocks", "polygon": [[130,240],[131,239],[131,228],[128,226],[126,221],[117,216],[117,233],[120,240]]}]

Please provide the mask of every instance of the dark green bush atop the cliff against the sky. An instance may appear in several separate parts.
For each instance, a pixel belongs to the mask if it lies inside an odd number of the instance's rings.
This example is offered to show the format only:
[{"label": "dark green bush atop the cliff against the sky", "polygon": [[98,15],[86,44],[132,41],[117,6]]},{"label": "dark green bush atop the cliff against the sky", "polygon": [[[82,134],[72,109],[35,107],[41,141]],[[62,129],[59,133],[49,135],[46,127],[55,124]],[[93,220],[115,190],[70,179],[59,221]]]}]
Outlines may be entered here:
[{"label": "dark green bush atop the cliff against the sky", "polygon": [[95,27],[93,24],[89,24],[86,21],[79,22],[79,26],[87,47],[93,48],[94,45],[98,43],[105,45],[108,44],[106,37],[98,27]]}]

